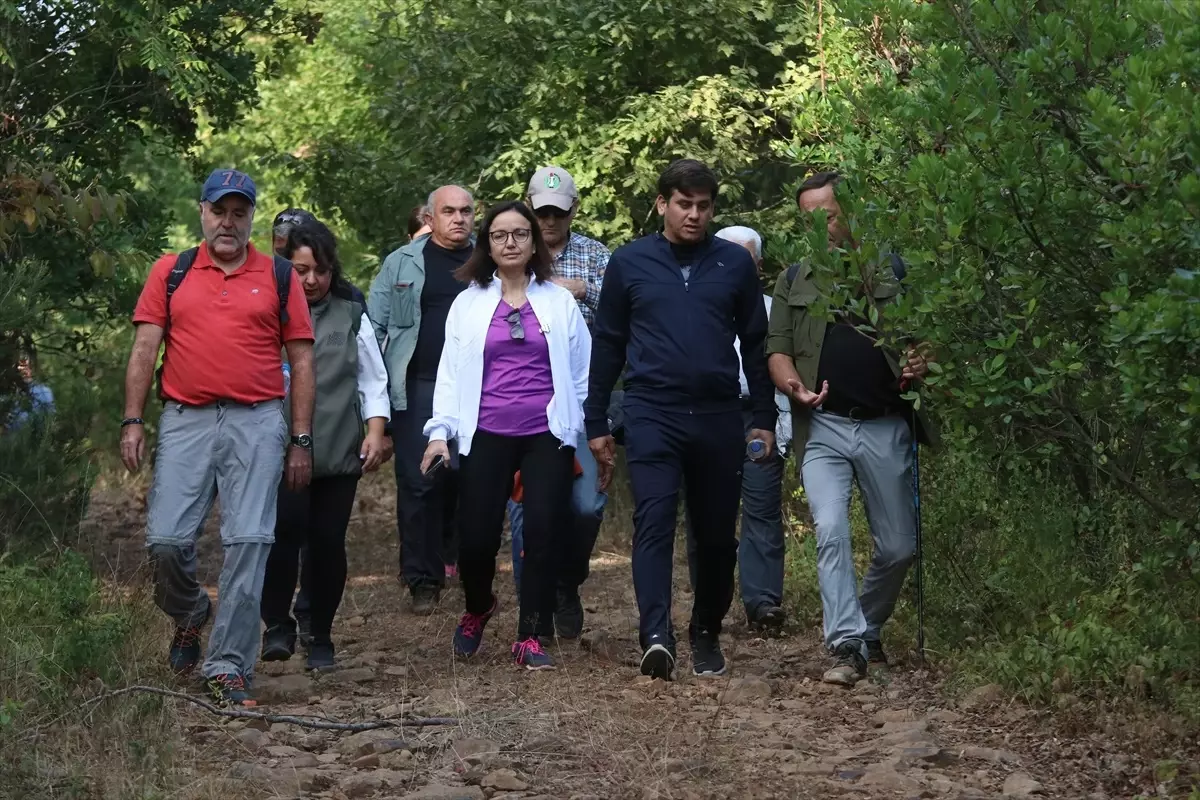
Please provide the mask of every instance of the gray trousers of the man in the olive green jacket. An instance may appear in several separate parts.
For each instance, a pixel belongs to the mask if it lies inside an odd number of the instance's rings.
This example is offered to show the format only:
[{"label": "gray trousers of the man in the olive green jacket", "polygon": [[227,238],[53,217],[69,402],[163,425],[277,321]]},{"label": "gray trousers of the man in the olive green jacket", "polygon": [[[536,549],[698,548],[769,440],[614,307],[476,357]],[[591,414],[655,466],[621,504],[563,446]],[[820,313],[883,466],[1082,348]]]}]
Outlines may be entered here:
[{"label": "gray trousers of the man in the olive green jacket", "polygon": [[[904,588],[917,543],[912,497],[912,432],[900,416],[854,421],[812,413],[800,475],[817,531],[817,581],[824,607],[824,639],[830,650],[844,642],[878,640]],[[875,540],[862,594],[850,542],[850,498],[854,482],[863,495]]]}]

